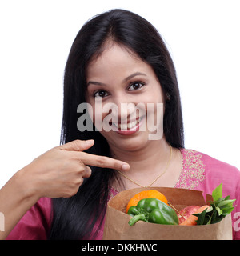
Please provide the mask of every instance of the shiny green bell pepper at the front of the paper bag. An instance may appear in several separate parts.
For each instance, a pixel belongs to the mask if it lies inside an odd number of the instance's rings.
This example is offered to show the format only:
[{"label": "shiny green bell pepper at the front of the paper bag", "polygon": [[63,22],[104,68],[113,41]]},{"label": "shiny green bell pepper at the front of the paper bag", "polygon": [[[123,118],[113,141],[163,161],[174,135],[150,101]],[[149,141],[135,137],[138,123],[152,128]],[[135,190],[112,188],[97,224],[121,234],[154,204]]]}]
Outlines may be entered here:
[{"label": "shiny green bell pepper at the front of the paper bag", "polygon": [[165,225],[178,225],[178,216],[174,209],[156,198],[145,198],[137,206],[131,206],[127,214],[131,217],[128,222],[133,226],[139,220]]}]

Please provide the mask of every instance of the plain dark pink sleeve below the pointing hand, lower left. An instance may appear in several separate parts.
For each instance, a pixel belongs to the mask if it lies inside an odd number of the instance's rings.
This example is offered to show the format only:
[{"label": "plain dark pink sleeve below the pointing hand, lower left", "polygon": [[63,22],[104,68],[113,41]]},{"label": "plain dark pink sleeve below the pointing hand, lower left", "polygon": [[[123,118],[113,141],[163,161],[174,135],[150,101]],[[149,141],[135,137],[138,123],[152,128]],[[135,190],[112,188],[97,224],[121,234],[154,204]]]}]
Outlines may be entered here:
[{"label": "plain dark pink sleeve below the pointing hand, lower left", "polygon": [[6,240],[46,240],[51,222],[51,199],[41,198],[20,219]]}]

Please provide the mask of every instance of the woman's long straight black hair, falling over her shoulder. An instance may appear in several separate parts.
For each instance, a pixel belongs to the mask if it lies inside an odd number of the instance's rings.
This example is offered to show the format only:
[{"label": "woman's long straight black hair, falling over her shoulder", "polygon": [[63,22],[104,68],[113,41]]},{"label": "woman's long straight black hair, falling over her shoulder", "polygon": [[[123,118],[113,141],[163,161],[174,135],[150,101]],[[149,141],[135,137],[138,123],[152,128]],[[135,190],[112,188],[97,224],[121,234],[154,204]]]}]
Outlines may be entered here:
[{"label": "woman's long straight black hair, falling over her shoulder", "polygon": [[[112,40],[133,51],[154,69],[167,95],[163,131],[166,141],[176,148],[184,147],[183,122],[178,82],[174,63],[158,31],[146,19],[127,10],[110,10],[86,22],[70,49],[64,76],[64,102],[61,143],[93,138],[90,154],[110,156],[106,139],[98,131],[80,132],[77,113],[86,102],[86,69],[90,61],[102,53],[106,40]],[[102,225],[114,170],[91,166],[78,193],[71,198],[53,199],[53,221],[50,239],[94,238]],[[98,225],[95,225],[98,223]],[[97,226],[97,228],[96,228]],[[94,229],[93,229],[94,227]]]}]

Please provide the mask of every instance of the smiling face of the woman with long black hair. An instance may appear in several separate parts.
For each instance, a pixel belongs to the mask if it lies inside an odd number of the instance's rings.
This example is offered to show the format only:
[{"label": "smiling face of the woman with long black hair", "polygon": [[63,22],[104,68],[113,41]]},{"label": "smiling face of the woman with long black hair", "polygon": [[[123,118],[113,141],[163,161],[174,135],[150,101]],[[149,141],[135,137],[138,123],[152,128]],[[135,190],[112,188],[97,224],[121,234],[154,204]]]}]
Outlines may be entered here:
[{"label": "smiling face of the woman with long black hair", "polygon": [[[123,46],[108,43],[90,62],[86,81],[86,101],[93,107],[94,125],[99,128],[100,123],[110,147],[138,150],[146,146],[152,131],[150,120],[156,124],[157,105],[164,102],[152,67]],[[106,131],[104,122],[113,129]]]}]

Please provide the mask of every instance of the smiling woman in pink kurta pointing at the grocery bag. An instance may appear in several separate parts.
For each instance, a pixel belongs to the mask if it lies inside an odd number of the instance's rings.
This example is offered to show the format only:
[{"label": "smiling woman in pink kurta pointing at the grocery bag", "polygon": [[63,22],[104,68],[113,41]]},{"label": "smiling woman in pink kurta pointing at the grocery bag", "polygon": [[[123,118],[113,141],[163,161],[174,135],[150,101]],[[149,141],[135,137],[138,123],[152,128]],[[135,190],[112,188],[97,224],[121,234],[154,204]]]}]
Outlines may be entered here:
[{"label": "smiling woman in pink kurta pointing at the grocery bag", "polygon": [[[89,124],[78,109],[85,102],[94,129],[82,129]],[[148,121],[161,123],[157,106],[163,106],[163,135],[150,139]],[[113,129],[102,129],[105,121]],[[36,158],[2,188],[6,223],[0,235],[101,239],[108,200],[139,186],[210,194],[223,182],[223,196],[230,194],[239,205],[239,176],[233,166],[184,149],[178,82],[162,38],[138,15],[111,10],[86,22],[74,40],[64,77],[62,146]]]}]

